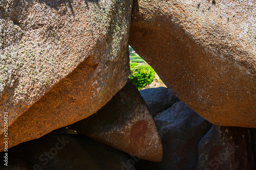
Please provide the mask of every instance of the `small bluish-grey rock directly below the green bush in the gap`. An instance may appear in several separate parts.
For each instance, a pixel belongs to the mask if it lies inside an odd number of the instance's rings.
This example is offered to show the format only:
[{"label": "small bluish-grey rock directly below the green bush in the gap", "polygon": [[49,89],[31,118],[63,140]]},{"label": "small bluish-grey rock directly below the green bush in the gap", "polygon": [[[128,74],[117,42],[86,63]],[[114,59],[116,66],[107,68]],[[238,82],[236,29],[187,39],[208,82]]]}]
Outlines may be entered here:
[{"label": "small bluish-grey rock directly below the green bush in the gap", "polygon": [[153,116],[179,101],[166,87],[147,88],[139,92]]}]

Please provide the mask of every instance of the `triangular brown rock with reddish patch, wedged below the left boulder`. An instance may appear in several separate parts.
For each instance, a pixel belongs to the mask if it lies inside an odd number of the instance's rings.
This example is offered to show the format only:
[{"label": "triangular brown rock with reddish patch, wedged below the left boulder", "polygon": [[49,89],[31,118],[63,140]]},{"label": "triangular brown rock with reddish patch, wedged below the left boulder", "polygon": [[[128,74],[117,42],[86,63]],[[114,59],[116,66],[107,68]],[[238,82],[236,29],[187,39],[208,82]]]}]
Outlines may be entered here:
[{"label": "triangular brown rock with reddish patch, wedged below the left boulder", "polygon": [[162,160],[162,142],[153,117],[130,80],[97,113],[69,128],[141,159]]}]

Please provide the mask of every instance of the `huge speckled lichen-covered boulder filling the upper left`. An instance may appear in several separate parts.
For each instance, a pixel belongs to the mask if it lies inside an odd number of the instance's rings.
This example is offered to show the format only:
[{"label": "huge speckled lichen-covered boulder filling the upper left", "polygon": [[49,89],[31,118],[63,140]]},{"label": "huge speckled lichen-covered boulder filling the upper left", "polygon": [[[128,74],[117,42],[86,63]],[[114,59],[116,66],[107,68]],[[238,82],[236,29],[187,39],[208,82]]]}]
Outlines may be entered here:
[{"label": "huge speckled lichen-covered boulder filling the upper left", "polygon": [[130,15],[131,1],[1,1],[9,147],[90,116],[125,85]]}]

